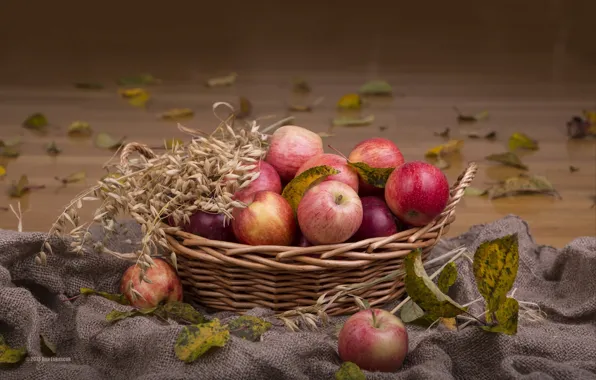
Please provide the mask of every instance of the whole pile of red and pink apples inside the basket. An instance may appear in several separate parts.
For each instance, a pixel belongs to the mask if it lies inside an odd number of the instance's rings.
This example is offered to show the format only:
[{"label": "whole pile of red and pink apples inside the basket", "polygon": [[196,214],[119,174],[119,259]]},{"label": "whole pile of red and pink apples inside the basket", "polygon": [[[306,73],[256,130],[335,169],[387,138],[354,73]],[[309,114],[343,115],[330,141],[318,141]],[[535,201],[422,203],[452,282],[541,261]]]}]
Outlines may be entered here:
[{"label": "whole pile of red and pink apples inside the basket", "polygon": [[[368,184],[348,165],[394,168],[384,188]],[[314,183],[296,210],[282,196],[284,187],[304,171],[329,166],[339,171]],[[321,137],[299,126],[283,126],[270,138],[268,153],[254,170],[259,177],[238,190],[231,223],[222,214],[199,211],[181,228],[207,239],[248,245],[310,246],[385,237],[437,217],[449,200],[447,178],[422,161],[405,162],[395,143],[370,138],[347,159],[325,153]]]}]

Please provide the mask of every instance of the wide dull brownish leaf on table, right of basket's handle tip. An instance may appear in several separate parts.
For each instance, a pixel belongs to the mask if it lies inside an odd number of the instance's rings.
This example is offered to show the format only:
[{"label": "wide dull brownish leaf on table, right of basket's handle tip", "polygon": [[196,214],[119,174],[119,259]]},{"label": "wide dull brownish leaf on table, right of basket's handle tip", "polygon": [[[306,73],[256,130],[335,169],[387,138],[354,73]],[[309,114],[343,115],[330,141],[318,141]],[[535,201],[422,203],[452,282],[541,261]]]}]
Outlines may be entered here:
[{"label": "wide dull brownish leaf on table, right of basket's handle tip", "polygon": [[561,199],[561,195],[543,176],[520,174],[494,184],[488,189],[488,198],[497,199],[516,195],[550,195]]}]

